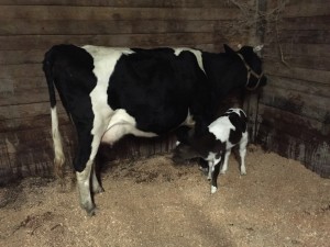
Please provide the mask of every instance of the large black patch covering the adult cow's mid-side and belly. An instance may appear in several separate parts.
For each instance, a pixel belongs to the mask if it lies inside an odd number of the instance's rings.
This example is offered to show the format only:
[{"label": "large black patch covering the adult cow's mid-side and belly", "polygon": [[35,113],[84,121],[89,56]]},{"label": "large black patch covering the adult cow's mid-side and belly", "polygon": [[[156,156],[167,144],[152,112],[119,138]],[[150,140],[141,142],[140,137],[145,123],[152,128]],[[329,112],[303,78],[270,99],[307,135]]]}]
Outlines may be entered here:
[{"label": "large black patch covering the adult cow's mid-side and belly", "polygon": [[170,48],[134,49],[118,60],[108,88],[108,103],[135,117],[138,128],[164,134],[187,116],[209,113],[209,90],[195,55]]}]

